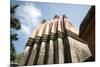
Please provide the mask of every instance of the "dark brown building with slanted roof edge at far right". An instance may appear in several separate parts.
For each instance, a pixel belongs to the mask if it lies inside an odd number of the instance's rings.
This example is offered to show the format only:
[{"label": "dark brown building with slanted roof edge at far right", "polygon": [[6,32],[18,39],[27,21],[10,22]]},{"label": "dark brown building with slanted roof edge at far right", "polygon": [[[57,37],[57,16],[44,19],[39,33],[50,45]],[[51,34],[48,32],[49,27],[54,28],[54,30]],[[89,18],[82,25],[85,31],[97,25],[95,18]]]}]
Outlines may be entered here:
[{"label": "dark brown building with slanted roof edge at far right", "polygon": [[87,42],[92,53],[87,61],[95,61],[95,6],[90,8],[83,19],[80,25],[79,37]]}]

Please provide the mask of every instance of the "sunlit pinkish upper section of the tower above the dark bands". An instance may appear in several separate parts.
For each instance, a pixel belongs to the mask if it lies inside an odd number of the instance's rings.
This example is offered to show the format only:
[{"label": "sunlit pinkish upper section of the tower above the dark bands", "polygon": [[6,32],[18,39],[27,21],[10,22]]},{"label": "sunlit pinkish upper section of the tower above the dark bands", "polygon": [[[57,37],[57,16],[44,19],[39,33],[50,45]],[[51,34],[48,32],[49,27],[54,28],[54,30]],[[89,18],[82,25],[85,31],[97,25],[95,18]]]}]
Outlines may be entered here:
[{"label": "sunlit pinkish upper section of the tower above the dark bands", "polygon": [[55,15],[53,20],[51,21],[43,20],[41,24],[38,25],[37,28],[33,31],[32,33],[33,37],[35,36],[33,35],[34,32],[36,32],[36,30],[37,32],[39,31],[38,29],[42,31],[41,34],[44,34],[44,32],[57,33],[57,31],[63,32],[64,30],[69,30],[78,35],[78,30],[75,28],[75,26],[69,21],[69,19],[65,15],[63,16]]}]

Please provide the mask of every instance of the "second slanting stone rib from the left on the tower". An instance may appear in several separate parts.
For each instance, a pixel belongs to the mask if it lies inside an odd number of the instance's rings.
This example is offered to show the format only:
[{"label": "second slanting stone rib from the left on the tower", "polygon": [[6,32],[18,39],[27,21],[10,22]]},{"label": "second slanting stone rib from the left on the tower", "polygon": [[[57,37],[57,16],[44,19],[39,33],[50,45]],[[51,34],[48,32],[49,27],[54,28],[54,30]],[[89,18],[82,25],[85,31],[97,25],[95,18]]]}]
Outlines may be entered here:
[{"label": "second slanting stone rib from the left on the tower", "polygon": [[40,45],[41,45],[40,40],[41,40],[42,34],[44,32],[45,26],[46,26],[46,23],[42,24],[41,27],[39,28],[39,33],[37,34],[37,36],[35,38],[34,46],[33,46],[32,53],[29,58],[28,65],[33,65],[33,64],[37,63],[36,58],[38,57],[37,54],[39,53],[39,49],[40,49]]}]

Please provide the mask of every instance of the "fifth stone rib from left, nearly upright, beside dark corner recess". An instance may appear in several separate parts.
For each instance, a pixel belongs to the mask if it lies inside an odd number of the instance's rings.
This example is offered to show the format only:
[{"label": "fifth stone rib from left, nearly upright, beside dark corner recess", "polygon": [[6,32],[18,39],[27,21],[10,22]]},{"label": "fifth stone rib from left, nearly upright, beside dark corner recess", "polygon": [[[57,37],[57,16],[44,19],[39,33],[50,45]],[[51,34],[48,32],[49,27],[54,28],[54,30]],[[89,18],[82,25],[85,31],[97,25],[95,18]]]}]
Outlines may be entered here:
[{"label": "fifth stone rib from left, nearly upright, beside dark corner recess", "polygon": [[58,21],[58,52],[59,52],[59,64],[64,63],[64,47],[63,47],[63,31],[62,31],[62,18]]}]

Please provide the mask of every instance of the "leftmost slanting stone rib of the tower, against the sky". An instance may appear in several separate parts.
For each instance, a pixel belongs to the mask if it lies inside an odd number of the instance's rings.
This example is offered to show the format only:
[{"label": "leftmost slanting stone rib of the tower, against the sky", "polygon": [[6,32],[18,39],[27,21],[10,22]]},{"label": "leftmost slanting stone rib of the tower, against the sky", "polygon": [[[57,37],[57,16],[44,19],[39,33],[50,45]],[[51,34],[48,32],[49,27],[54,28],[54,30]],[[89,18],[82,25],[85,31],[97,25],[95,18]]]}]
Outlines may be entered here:
[{"label": "leftmost slanting stone rib of the tower, against the sky", "polygon": [[41,24],[38,25],[38,27],[32,32],[32,35],[29,37],[29,39],[27,41],[25,49],[24,49],[24,53],[21,57],[21,62],[20,62],[21,65],[27,65],[31,51],[32,51],[32,47],[34,44],[34,39],[35,39],[37,33],[39,32],[40,27],[41,27]]}]

